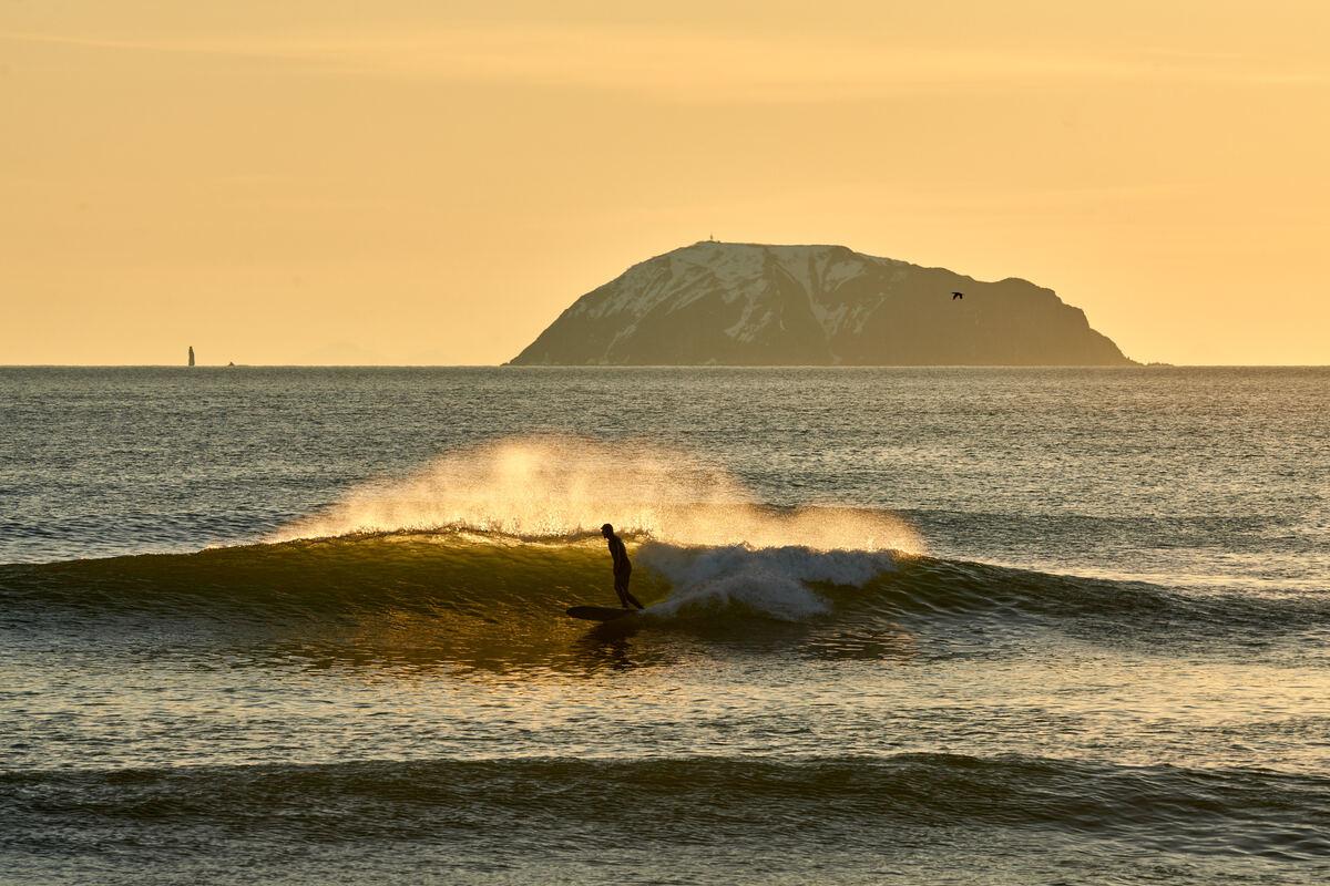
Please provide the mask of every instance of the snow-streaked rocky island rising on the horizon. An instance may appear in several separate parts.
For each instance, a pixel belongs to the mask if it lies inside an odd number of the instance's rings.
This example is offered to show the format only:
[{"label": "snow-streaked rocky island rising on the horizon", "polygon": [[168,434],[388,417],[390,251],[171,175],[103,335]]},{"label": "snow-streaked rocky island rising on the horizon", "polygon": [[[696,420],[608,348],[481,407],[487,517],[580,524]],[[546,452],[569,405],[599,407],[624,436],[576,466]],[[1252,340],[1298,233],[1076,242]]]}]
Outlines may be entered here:
[{"label": "snow-streaked rocky island rising on the horizon", "polygon": [[716,242],[634,264],[511,363],[1133,365],[1080,308],[1027,280],[982,283],[843,246]]}]

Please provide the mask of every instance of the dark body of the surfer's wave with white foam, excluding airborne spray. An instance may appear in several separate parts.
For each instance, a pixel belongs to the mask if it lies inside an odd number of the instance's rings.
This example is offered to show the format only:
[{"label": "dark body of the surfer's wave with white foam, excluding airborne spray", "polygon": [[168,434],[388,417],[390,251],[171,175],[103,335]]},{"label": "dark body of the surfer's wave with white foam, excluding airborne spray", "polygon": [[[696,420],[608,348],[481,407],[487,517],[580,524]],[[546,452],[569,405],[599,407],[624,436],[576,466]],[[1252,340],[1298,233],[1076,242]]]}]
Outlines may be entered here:
[{"label": "dark body of the surfer's wave with white foam, excluding airborne spray", "polygon": [[[1100,636],[1237,634],[1250,644],[1330,623],[1325,595],[1182,592],[892,551],[628,543],[634,594],[662,626],[1039,622]],[[511,640],[512,631],[567,626],[568,606],[613,600],[605,546],[592,535],[391,533],[0,566],[0,622],[69,611],[233,627],[414,619],[435,634],[501,624]]]}]

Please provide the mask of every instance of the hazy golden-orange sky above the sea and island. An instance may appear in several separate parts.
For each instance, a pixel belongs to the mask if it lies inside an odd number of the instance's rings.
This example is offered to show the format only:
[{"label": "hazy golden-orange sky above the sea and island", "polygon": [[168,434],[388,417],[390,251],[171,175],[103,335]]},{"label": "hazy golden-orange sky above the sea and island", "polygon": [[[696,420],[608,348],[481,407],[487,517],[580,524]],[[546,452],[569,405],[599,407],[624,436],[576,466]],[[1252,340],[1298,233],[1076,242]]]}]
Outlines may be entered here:
[{"label": "hazy golden-orange sky above the sea and island", "polygon": [[1330,363],[1323,0],[0,0],[0,363],[500,363],[714,234]]}]

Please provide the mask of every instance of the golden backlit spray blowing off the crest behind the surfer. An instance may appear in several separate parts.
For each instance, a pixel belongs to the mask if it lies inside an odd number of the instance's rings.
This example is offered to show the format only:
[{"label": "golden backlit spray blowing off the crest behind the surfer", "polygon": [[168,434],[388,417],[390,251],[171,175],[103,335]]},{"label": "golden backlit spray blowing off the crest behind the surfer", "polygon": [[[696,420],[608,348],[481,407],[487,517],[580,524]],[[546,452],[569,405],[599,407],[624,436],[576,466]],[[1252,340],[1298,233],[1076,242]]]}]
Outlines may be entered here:
[{"label": "golden backlit spray blowing off the crest behind the surfer", "polygon": [[887,513],[774,511],[725,470],[682,453],[575,437],[505,440],[442,456],[406,480],[352,489],[267,541],[438,529],[568,538],[604,522],[676,546],[923,553],[919,535]]}]

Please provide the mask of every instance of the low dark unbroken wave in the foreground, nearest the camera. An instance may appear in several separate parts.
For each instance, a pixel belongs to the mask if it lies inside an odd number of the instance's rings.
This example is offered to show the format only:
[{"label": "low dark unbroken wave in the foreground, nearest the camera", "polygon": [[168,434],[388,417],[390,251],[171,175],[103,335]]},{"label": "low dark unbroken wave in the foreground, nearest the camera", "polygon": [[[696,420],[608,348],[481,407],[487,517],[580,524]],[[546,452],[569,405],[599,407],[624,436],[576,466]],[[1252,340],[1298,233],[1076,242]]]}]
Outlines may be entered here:
[{"label": "low dark unbroken wave in the foreground, nearest the camera", "polygon": [[951,753],[60,769],[0,772],[0,821],[8,846],[44,858],[138,849],[164,821],[205,842],[243,833],[301,845],[503,842],[521,822],[547,842],[609,847],[724,845],[761,821],[769,840],[811,834],[842,849],[982,826],[1307,861],[1330,857],[1330,780]]}]

